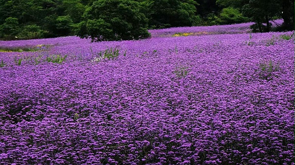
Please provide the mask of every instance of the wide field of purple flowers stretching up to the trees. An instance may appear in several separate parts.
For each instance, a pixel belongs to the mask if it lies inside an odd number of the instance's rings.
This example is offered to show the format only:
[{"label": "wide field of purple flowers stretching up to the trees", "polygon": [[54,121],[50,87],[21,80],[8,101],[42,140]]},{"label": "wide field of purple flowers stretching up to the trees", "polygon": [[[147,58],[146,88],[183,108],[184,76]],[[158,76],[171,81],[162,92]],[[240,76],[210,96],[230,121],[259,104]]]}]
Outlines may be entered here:
[{"label": "wide field of purple flowers stretching up to the trees", "polygon": [[293,32],[242,27],[0,41],[0,165],[295,165]]}]

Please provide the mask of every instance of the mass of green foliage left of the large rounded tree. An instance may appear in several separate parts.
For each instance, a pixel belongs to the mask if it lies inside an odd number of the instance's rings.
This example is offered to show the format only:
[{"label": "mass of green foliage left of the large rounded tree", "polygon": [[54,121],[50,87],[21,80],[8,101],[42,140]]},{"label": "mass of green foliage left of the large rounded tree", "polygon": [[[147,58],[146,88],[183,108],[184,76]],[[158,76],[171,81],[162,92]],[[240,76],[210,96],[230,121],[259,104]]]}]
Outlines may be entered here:
[{"label": "mass of green foliage left of the large rounded tree", "polygon": [[[73,24],[81,21],[85,5],[81,0],[2,0],[0,25],[7,26],[5,19],[18,20],[17,30],[0,31],[4,39],[33,39],[73,34]],[[3,27],[4,26],[4,27]],[[33,27],[34,26],[34,27]],[[37,27],[37,28],[36,28]],[[4,33],[5,32],[5,33]]]}]

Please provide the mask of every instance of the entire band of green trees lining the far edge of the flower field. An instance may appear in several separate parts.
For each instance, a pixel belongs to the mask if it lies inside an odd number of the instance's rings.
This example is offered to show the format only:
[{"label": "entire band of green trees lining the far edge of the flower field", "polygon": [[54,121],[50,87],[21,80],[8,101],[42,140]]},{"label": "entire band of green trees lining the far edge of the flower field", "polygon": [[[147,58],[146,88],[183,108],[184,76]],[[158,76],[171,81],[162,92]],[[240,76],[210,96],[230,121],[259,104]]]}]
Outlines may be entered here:
[{"label": "entire band of green trees lining the far edge of the flower field", "polygon": [[237,24],[254,32],[295,28],[294,0],[0,0],[0,38],[67,35],[92,41],[147,38],[147,29]]}]

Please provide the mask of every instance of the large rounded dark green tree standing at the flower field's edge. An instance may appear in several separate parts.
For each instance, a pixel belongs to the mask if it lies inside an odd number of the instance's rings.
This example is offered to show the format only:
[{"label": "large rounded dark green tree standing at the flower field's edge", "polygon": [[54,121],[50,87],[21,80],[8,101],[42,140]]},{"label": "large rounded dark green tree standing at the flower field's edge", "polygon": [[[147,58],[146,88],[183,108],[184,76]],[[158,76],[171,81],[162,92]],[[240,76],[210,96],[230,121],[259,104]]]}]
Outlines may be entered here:
[{"label": "large rounded dark green tree standing at the flower field's edge", "polygon": [[150,36],[148,19],[133,0],[96,0],[86,9],[76,35],[93,41],[138,40]]}]

